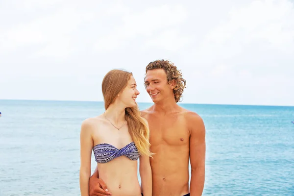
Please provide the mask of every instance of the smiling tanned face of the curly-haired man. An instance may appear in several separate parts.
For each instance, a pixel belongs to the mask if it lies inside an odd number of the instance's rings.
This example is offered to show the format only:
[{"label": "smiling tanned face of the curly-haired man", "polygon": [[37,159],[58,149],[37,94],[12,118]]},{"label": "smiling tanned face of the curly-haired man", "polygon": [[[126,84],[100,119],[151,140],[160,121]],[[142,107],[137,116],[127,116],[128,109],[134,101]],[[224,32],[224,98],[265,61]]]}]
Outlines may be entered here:
[{"label": "smiling tanned face of the curly-haired man", "polygon": [[163,69],[147,71],[145,86],[154,103],[170,98],[170,96],[174,97],[172,87],[168,83],[167,74]]}]

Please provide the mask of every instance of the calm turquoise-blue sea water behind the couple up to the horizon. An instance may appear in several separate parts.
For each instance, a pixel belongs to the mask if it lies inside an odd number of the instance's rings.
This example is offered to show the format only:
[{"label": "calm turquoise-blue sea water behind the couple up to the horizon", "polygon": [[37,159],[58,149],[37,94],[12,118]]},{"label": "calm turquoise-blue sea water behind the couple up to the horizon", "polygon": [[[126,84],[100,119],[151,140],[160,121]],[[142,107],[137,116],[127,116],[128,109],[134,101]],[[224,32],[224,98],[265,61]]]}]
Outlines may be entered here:
[{"label": "calm turquoise-blue sea water behind the couple up to the horizon", "polygon": [[[203,196],[294,196],[294,107],[181,106],[206,126]],[[78,196],[80,125],[103,111],[102,102],[0,100],[0,196]]]}]

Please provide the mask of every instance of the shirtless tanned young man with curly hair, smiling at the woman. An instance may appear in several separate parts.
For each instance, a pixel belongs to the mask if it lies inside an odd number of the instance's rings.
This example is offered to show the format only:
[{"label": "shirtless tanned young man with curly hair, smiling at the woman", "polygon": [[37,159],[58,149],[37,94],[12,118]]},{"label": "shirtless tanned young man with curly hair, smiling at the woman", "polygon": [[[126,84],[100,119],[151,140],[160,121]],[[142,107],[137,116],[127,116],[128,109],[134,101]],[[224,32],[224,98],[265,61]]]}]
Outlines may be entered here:
[{"label": "shirtless tanned young man with curly hair, smiling at the woman", "polygon": [[[146,91],[154,104],[141,112],[150,128],[152,196],[201,196],[205,179],[205,126],[199,115],[180,107],[186,81],[170,61],[146,67]],[[189,158],[191,182],[189,189]],[[107,196],[96,171],[89,181],[90,196]],[[189,193],[190,192],[190,193]]]}]

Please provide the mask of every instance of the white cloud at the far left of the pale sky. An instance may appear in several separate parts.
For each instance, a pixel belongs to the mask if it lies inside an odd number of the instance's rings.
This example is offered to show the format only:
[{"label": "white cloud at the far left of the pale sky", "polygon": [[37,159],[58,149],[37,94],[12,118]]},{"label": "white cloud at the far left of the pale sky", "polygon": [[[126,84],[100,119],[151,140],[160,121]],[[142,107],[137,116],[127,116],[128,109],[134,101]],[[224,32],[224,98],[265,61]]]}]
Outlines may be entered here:
[{"label": "white cloud at the far left of the pale sky", "polygon": [[20,47],[38,45],[41,50],[37,51],[37,54],[65,57],[74,47],[74,40],[69,41],[72,33],[78,30],[82,21],[92,18],[91,13],[62,7],[54,13],[43,15],[27,24],[13,26],[6,31],[2,30],[0,32],[0,51],[7,53]]}]

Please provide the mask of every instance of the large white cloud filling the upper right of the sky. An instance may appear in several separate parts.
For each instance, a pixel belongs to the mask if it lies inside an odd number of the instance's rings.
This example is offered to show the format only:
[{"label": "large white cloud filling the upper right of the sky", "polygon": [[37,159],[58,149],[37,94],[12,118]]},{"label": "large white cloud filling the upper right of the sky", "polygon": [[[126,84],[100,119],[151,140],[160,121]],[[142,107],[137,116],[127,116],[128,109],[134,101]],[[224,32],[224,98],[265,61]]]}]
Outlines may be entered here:
[{"label": "large white cloud filling the upper right of the sky", "polygon": [[271,73],[288,77],[294,72],[293,5],[287,0],[254,0],[233,8],[227,20],[221,19],[185,57],[194,56],[202,73],[230,65],[231,70],[254,77]]}]

